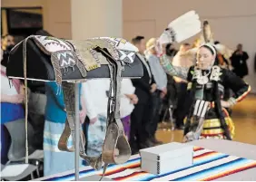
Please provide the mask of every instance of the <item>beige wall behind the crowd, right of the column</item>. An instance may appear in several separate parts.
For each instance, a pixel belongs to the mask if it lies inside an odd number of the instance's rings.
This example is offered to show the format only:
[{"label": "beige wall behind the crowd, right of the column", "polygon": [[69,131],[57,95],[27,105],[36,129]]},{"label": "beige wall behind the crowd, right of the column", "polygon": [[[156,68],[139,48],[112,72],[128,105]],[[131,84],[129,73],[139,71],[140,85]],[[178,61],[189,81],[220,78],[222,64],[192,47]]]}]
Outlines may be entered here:
[{"label": "beige wall behind the crowd, right of the column", "polygon": [[123,37],[131,40],[138,34],[147,39],[159,36],[167,24],[190,10],[200,14],[202,20],[209,20],[215,40],[233,49],[237,43],[243,44],[250,55],[250,75],[245,81],[256,92],[256,0],[123,0]]}]

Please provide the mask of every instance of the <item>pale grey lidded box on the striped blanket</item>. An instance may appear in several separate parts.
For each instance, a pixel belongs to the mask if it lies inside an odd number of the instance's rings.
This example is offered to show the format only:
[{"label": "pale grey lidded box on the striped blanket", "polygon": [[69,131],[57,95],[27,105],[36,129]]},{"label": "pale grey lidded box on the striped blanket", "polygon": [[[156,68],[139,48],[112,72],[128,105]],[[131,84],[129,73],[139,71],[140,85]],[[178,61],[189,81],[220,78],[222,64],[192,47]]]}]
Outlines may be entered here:
[{"label": "pale grey lidded box on the striped blanket", "polygon": [[164,174],[192,166],[193,146],[172,142],[144,148],[141,153],[141,168],[153,175]]}]

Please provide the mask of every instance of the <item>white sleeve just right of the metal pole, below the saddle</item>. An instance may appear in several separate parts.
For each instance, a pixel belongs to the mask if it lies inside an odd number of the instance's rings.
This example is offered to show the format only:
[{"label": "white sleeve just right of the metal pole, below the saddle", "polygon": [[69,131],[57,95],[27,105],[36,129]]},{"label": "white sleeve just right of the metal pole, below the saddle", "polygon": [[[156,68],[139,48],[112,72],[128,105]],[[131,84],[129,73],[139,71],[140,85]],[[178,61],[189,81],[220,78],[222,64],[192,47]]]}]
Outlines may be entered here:
[{"label": "white sleeve just right of the metal pole, below the saddle", "polygon": [[90,120],[97,117],[97,109],[94,106],[94,98],[91,95],[90,84],[87,82],[82,83],[82,91],[84,94],[85,107],[87,110],[87,116]]}]

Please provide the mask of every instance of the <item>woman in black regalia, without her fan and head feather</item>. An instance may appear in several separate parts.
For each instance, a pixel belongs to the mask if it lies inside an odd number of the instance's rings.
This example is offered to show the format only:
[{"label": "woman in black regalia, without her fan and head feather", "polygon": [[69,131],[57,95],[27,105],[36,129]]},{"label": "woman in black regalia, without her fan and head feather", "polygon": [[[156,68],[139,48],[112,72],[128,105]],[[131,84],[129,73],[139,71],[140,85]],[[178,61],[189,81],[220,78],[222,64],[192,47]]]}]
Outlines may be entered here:
[{"label": "woman in black regalia, without her fan and head feather", "polygon": [[[194,66],[183,68],[173,66],[166,54],[161,56],[166,73],[189,81],[192,107],[186,120],[183,141],[232,139],[234,125],[225,108],[244,99],[251,87],[233,72],[218,66],[217,51],[211,43],[199,47],[196,61]],[[228,101],[222,101],[224,88],[234,93]]]}]

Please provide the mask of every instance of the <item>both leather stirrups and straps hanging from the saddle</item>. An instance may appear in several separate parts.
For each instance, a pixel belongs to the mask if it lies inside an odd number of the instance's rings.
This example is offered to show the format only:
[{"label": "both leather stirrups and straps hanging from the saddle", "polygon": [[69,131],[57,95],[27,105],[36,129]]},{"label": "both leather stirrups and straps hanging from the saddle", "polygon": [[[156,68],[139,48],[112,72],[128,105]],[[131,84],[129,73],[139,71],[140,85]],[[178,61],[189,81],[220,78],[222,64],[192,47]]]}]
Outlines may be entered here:
[{"label": "both leather stirrups and straps hanging from the saddle", "polygon": [[[85,139],[80,130],[80,157],[84,158],[94,169],[100,169],[104,162],[103,175],[108,164],[122,164],[131,157],[131,148],[125,138],[123,123],[120,120],[120,92],[121,92],[121,73],[123,72],[122,62],[113,59],[113,56],[105,49],[95,48],[102,53],[109,62],[111,83],[107,110],[107,129],[103,142],[102,155],[98,157],[88,157],[84,151]],[[59,140],[58,147],[64,151],[74,151],[74,148],[67,148],[67,139],[70,135],[74,140],[74,84],[63,82],[64,102],[66,106],[67,119],[65,129]],[[112,97],[113,95],[113,97]],[[77,103],[76,103],[77,104]],[[118,150],[118,154],[116,151]],[[102,176],[103,177],[103,176]]]}]

